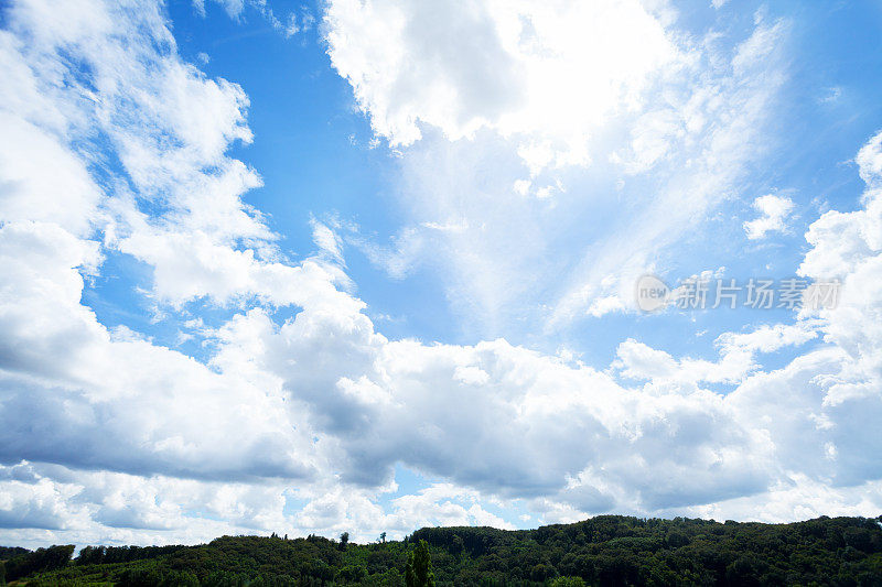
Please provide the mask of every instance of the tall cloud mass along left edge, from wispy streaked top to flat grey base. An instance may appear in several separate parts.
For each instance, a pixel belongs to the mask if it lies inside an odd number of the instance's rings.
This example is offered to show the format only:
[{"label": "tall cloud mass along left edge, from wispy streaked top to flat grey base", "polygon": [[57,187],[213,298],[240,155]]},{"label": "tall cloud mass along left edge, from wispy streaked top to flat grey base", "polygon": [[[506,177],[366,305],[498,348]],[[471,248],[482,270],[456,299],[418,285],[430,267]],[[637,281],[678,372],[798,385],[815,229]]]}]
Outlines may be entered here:
[{"label": "tall cloud mass along left edge, from wispy streaked top to flat grey base", "polygon": [[[14,4],[2,32],[2,59],[33,101],[10,93],[1,113],[23,149],[0,155],[0,459],[189,478],[308,477],[314,465],[294,447],[309,441],[297,439],[282,398],[108,329],[83,305],[86,279],[115,251],[151,262],[153,295],[173,304],[258,296],[333,305],[338,292],[336,270],[322,263],[267,260],[277,257],[275,236],[238,197],[258,185],[256,175],[224,154],[250,139],[241,90],[178,57],[159,7],[67,8]],[[68,70],[74,57],[82,72]],[[93,165],[103,151],[80,151],[96,133],[115,149],[127,183]],[[164,215],[148,217],[139,203],[161,203]]]}]

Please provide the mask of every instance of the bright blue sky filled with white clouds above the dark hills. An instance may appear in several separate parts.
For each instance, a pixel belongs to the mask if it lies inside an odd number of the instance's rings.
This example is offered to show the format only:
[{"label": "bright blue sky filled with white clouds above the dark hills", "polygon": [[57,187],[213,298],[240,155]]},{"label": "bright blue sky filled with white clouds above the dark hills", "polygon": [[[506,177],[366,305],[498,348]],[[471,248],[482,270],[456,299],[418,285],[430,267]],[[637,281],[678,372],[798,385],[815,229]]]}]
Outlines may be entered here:
[{"label": "bright blue sky filled with white clouds above the dark hills", "polygon": [[0,544],[882,514],[879,2],[10,0],[0,73]]}]

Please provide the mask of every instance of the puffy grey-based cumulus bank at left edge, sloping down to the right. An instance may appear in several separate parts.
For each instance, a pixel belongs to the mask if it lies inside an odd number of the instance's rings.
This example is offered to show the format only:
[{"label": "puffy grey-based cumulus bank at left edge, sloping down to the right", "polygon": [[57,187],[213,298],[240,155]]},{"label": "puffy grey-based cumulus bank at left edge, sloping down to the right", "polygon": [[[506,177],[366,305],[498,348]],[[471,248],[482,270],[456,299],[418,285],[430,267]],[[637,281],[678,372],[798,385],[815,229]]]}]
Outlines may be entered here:
[{"label": "puffy grey-based cumulus bank at left edge, sloping down to the right", "polygon": [[97,243],[33,222],[3,225],[0,242],[0,459],[196,477],[306,475],[279,398],[108,330],[80,304],[80,271],[96,262]]}]

